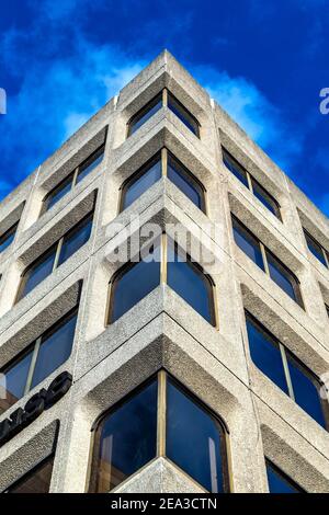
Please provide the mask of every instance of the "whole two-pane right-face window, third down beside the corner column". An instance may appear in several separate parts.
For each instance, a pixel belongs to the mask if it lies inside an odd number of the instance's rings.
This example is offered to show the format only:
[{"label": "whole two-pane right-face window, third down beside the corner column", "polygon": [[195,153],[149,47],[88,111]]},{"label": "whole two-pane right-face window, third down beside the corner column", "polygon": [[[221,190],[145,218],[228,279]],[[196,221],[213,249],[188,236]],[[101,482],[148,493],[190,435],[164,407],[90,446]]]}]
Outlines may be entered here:
[{"label": "whole two-pane right-face window, third down beside the corner column", "polygon": [[[249,313],[246,313],[246,321],[254,365],[326,428],[328,403],[321,399],[319,380]],[[286,369],[284,362],[287,363]]]}]

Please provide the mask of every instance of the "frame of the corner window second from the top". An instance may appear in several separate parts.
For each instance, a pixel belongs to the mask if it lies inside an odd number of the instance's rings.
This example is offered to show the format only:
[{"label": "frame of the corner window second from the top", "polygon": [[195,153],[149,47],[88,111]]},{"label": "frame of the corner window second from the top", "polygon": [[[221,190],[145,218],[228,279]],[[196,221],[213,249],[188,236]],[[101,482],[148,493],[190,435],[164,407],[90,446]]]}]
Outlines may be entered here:
[{"label": "frame of the corner window second from the top", "polygon": [[[201,207],[198,207],[191,198],[185,195],[184,192],[180,190],[179,186],[177,186],[170,179],[171,184],[173,184],[174,187],[177,187],[189,201],[197,208],[200,209],[205,216],[208,216],[207,213],[207,190],[203,185],[203,183],[167,148],[162,147],[158,152],[156,152],[150,159],[148,159],[141,167],[139,167],[129,178],[127,178],[122,185],[120,186],[120,198],[118,198],[118,207],[117,207],[117,216],[123,213],[125,209],[128,209],[134,203],[129,204],[126,208],[124,208],[124,201],[125,201],[125,194],[126,194],[126,188],[127,186],[133,185],[136,181],[138,181],[139,178],[144,175],[144,173],[147,173],[148,170],[152,167],[152,164],[156,164],[158,161],[160,162],[161,167],[161,179],[168,178],[168,162],[169,159],[172,159],[174,163],[177,163],[181,174],[186,178],[186,182],[191,181],[190,184],[192,184],[193,187],[195,184],[197,187],[201,190]],[[156,183],[155,183],[156,184]],[[144,192],[146,193],[146,191]],[[198,192],[197,192],[198,193]],[[136,201],[134,201],[136,202]]]}]

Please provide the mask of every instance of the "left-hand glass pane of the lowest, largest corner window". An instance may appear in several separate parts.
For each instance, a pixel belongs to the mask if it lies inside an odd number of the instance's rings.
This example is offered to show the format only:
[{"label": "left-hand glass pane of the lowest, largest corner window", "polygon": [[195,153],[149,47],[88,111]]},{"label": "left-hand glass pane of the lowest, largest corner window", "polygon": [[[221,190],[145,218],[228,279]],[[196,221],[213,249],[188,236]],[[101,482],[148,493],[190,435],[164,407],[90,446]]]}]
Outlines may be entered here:
[{"label": "left-hand glass pane of the lowest, largest corner window", "polygon": [[109,492],[156,457],[157,387],[152,381],[102,422],[97,492]]}]

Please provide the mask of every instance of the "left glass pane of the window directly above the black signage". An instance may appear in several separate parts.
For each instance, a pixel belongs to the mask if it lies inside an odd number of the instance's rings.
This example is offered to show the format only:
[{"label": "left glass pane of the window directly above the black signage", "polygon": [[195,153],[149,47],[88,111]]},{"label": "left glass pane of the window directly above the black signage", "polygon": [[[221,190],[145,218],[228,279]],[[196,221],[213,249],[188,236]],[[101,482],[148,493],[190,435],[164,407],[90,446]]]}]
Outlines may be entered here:
[{"label": "left glass pane of the window directly above the black signage", "polygon": [[0,414],[24,396],[31,359],[32,351],[0,376]]}]

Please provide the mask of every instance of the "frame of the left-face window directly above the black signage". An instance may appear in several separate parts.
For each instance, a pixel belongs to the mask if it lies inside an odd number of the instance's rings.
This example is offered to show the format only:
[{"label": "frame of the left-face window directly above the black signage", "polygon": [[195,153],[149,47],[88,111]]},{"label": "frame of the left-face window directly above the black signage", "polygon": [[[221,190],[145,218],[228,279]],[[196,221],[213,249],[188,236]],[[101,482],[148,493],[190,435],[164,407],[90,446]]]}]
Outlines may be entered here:
[{"label": "frame of the left-face window directly above the black signage", "polygon": [[[13,368],[25,356],[27,356],[30,353],[32,353],[31,363],[30,363],[27,375],[26,375],[26,382],[25,382],[25,386],[24,386],[24,393],[21,398],[18,399],[16,402],[19,402],[21,399],[23,399],[25,396],[27,396],[27,393],[30,393],[37,386],[37,385],[35,385],[34,387],[32,387],[32,384],[33,384],[34,371],[35,371],[35,368],[36,368],[36,365],[37,365],[38,351],[39,351],[39,347],[42,346],[42,344],[44,343],[44,341],[47,337],[52,336],[54,333],[56,333],[57,330],[60,329],[63,325],[65,325],[66,322],[68,322],[71,318],[77,317],[77,320],[78,320],[78,314],[79,314],[79,302],[72,309],[70,309],[67,313],[65,313],[59,320],[57,320],[49,328],[47,328],[35,340],[33,340],[33,342],[31,342],[18,355],[15,355],[12,359],[10,359],[3,367],[0,368],[0,373],[5,375],[8,370]],[[72,340],[71,353],[72,353],[72,348],[73,348],[73,345],[75,345],[75,339],[76,339],[76,333],[75,333],[75,336],[73,336],[73,340]],[[70,355],[71,355],[71,353],[70,353]],[[63,366],[68,359],[69,359],[69,357],[65,362],[63,362],[63,364],[59,365],[59,366]],[[57,370],[58,368],[59,367],[55,368],[52,374],[54,374],[55,370]],[[47,377],[49,377],[49,376],[47,376]],[[43,379],[43,381],[44,380],[46,380],[46,378]],[[38,382],[38,385],[42,384],[43,381]],[[11,407],[9,407],[7,410],[4,410],[2,412],[2,414],[5,413],[8,410],[10,410],[16,402],[14,402]],[[0,416],[1,416],[1,413],[0,413]]]}]

